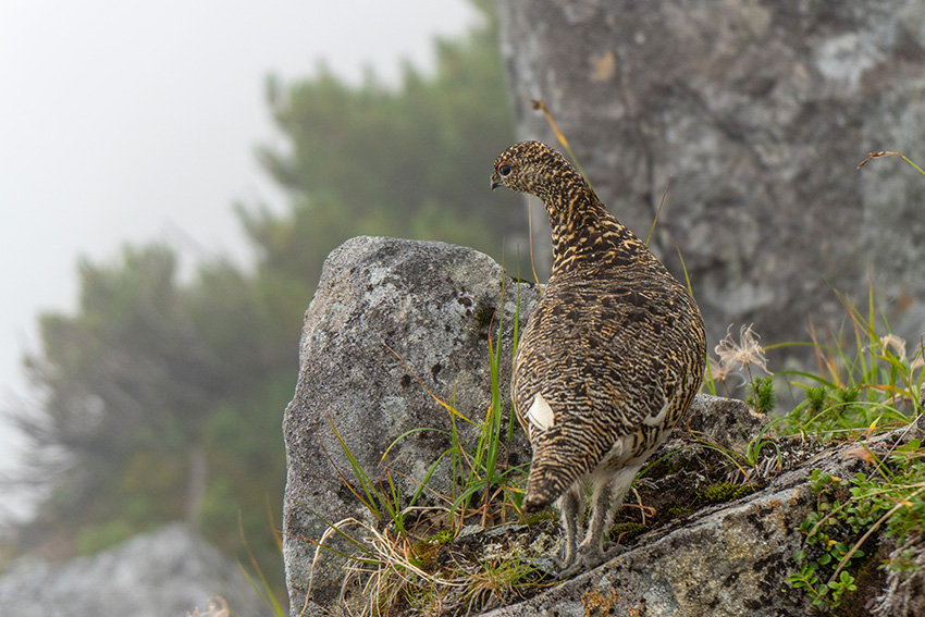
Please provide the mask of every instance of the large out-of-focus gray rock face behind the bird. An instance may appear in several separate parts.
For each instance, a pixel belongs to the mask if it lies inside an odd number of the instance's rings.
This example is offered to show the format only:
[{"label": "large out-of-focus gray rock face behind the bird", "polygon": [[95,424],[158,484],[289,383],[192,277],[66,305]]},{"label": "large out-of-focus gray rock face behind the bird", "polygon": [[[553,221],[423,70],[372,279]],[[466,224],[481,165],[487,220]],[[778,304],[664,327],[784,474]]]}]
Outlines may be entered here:
[{"label": "large out-of-focus gray rock face behind the bird", "polygon": [[[501,0],[518,133],[556,145],[543,99],[612,212],[681,274],[718,341],[865,303],[925,323],[925,3]],[[548,246],[542,208],[533,246]],[[545,271],[545,270],[544,270]],[[831,286],[831,287],[830,287]],[[895,300],[895,301],[893,301]]]}]

